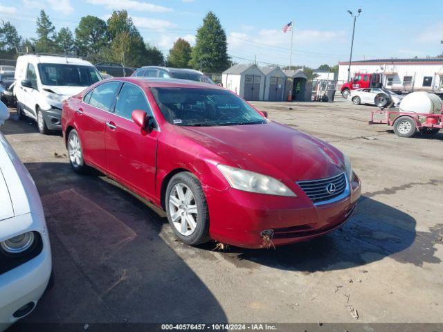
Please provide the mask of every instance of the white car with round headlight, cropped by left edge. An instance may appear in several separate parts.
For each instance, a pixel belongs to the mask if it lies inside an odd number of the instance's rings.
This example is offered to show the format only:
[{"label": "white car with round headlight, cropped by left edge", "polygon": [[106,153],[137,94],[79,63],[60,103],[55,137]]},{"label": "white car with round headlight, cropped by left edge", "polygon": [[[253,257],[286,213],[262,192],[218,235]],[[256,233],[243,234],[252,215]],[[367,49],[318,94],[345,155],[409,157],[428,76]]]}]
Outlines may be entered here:
[{"label": "white car with round headlight, cropped by left edge", "polygon": [[[0,125],[8,117],[8,108],[0,102]],[[39,193],[0,132],[0,331],[33,311],[51,270]]]}]

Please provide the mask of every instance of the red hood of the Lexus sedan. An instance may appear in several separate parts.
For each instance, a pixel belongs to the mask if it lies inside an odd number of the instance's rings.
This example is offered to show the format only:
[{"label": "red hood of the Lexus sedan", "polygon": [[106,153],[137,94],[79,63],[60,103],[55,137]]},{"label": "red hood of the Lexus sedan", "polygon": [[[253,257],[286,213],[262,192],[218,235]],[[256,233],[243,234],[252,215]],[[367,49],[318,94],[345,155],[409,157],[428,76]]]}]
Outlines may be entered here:
[{"label": "red hood of the Lexus sedan", "polygon": [[337,149],[277,122],[176,128],[217,154],[221,163],[275,178],[302,181],[343,172]]}]

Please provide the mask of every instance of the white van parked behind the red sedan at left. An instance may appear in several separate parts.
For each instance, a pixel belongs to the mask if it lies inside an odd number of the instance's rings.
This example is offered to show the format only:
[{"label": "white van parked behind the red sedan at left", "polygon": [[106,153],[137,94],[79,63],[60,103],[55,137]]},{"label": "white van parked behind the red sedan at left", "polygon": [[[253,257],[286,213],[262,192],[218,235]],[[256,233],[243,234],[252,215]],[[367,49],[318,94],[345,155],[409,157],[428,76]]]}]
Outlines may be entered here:
[{"label": "white van parked behind the red sedan at left", "polygon": [[21,55],[14,93],[19,118],[33,118],[40,133],[62,129],[62,100],[102,80],[96,67],[75,57]]}]

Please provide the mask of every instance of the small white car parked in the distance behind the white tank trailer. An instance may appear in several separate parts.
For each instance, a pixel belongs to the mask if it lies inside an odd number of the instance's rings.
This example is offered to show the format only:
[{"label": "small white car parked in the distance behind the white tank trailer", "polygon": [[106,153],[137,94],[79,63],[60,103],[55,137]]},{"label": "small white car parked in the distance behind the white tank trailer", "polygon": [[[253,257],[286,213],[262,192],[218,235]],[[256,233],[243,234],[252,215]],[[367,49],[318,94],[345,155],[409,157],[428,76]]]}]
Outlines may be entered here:
[{"label": "small white car parked in the distance behind the white tank trailer", "polygon": [[378,107],[386,107],[390,100],[394,102],[394,106],[398,107],[404,95],[397,95],[387,89],[379,88],[364,88],[350,91],[347,95],[347,100],[352,101],[354,104],[370,104],[377,105]]}]

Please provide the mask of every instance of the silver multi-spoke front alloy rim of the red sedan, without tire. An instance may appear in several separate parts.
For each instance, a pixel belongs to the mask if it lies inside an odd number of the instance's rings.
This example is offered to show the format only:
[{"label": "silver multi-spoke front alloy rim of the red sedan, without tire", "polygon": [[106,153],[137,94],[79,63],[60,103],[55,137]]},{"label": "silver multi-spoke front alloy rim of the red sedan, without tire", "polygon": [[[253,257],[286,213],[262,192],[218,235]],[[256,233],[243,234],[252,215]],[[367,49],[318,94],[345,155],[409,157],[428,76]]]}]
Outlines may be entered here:
[{"label": "silver multi-spoke front alloy rim of the red sedan, without tire", "polygon": [[197,203],[190,188],[183,184],[174,185],[169,196],[169,213],[177,231],[189,236],[197,226]]}]

